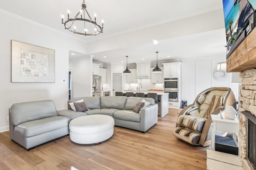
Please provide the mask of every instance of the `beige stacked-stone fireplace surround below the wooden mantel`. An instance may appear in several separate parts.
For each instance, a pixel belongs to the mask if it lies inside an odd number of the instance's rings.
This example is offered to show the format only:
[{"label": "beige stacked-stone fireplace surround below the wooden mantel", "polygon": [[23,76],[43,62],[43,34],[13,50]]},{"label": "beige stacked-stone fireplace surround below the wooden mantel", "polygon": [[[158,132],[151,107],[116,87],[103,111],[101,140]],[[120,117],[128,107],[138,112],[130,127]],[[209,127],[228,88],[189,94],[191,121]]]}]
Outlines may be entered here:
[{"label": "beige stacked-stone fireplace surround below the wooden mantel", "polygon": [[[239,87],[239,156],[244,170],[254,170],[256,168],[254,123],[256,122],[256,69],[240,72],[240,77],[242,85]],[[248,140],[248,137],[251,139]]]}]

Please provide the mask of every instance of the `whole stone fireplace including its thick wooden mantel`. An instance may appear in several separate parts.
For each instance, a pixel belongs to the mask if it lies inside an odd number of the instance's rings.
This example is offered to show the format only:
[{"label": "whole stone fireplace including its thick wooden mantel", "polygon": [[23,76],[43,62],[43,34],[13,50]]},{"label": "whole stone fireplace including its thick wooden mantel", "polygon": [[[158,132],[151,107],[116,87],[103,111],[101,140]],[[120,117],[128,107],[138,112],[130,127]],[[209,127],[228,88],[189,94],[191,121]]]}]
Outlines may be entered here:
[{"label": "whole stone fireplace including its thick wooden mantel", "polygon": [[[239,156],[244,170],[254,170],[248,161],[248,117],[256,117],[256,29],[242,41],[227,59],[227,72],[240,72],[239,87]],[[245,115],[243,113],[246,113]],[[255,139],[255,137],[254,137]],[[255,141],[255,140],[254,140]],[[252,145],[252,144],[250,144]],[[255,143],[254,143],[255,145]],[[255,151],[255,149],[254,149]]]}]

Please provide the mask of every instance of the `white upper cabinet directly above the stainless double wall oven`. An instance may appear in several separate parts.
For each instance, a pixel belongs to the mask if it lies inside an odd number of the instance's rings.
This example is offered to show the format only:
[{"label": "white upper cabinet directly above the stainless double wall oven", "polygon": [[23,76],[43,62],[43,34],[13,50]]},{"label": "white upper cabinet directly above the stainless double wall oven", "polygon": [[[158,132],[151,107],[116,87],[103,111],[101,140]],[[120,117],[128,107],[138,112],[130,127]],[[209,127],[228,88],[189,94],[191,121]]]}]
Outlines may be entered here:
[{"label": "white upper cabinet directly above the stainless double wall oven", "polygon": [[164,78],[178,78],[180,76],[180,63],[163,63]]}]

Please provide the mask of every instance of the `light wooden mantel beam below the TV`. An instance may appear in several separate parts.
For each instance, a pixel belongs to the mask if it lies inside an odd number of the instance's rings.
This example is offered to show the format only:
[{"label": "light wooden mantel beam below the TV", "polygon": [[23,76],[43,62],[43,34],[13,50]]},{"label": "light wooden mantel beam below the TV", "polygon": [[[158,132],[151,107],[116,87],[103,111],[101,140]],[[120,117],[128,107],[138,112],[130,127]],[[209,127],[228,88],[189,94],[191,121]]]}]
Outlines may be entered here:
[{"label": "light wooden mantel beam below the TV", "polygon": [[227,59],[227,72],[242,72],[252,68],[256,68],[256,29]]}]

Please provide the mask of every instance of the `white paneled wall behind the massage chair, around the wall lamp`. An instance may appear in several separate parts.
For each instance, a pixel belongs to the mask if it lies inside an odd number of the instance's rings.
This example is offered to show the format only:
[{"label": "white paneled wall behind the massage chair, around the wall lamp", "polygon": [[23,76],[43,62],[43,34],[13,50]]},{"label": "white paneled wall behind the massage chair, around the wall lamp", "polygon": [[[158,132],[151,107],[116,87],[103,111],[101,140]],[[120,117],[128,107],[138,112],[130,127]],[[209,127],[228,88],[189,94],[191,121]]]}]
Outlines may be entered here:
[{"label": "white paneled wall behind the massage chair, around the wall lamp", "polygon": [[226,56],[182,60],[181,100],[191,104],[200,92],[211,87],[230,87],[237,93],[238,83],[231,82],[231,74],[225,81],[218,81],[213,76],[217,63],[225,61]]}]

